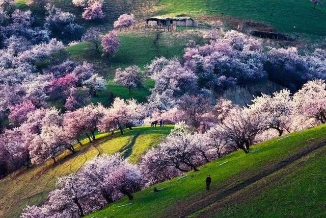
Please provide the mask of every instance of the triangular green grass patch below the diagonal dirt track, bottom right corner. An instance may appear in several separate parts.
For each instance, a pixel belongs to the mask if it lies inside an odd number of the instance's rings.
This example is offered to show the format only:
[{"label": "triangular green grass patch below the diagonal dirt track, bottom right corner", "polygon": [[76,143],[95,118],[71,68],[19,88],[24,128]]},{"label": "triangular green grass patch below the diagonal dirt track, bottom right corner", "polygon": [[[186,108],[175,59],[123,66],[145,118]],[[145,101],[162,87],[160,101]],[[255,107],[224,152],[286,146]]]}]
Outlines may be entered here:
[{"label": "triangular green grass patch below the diagonal dirt track, bottom right corner", "polygon": [[[245,188],[207,217],[324,217],[326,148],[321,148],[269,177]],[[221,205],[221,203],[220,203]]]}]

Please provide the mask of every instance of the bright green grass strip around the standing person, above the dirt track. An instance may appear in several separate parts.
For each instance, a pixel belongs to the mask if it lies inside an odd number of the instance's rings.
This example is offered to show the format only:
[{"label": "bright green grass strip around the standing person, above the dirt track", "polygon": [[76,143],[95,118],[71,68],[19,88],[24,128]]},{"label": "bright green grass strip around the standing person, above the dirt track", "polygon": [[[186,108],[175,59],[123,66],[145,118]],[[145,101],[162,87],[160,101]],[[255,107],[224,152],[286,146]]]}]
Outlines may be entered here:
[{"label": "bright green grass strip around the standing person, above the dirt track", "polygon": [[[167,214],[170,216],[192,214],[212,205],[218,200],[221,193],[224,193],[226,197],[232,191],[237,193],[235,187],[238,187],[239,184],[246,184],[253,178],[258,178],[259,175],[268,172],[269,169],[286,164],[287,162],[284,161],[288,161],[287,159],[293,157],[293,155],[294,157],[300,157],[300,155],[295,156],[295,154],[303,154],[309,151],[307,149],[325,144],[325,129],[326,126],[319,126],[292,133],[289,137],[259,143],[247,155],[242,151],[232,153],[200,167],[199,172],[189,172],[186,177],[175,178],[156,185],[158,188],[166,188],[165,190],[154,193],[152,191],[153,187],[149,187],[135,193],[131,205],[118,208],[120,205],[129,203],[124,198],[113,205],[90,214],[88,217],[158,217],[167,216]],[[278,173],[278,171],[274,173]],[[208,174],[212,178],[212,188],[206,192],[205,178]],[[316,182],[318,181],[316,180]],[[319,185],[326,188],[325,183]],[[300,191],[304,191],[304,189],[300,189]],[[289,195],[286,201],[294,201],[292,197]],[[279,204],[281,203],[279,202]],[[277,211],[277,203],[274,206]],[[301,206],[304,207],[302,210],[309,208],[307,204]],[[286,207],[286,204],[284,207]],[[245,209],[246,207],[242,208]],[[250,208],[247,209],[250,210]],[[315,208],[309,209],[313,210]],[[319,208],[316,208],[316,210],[319,210]]]}]

